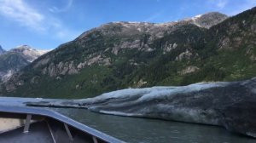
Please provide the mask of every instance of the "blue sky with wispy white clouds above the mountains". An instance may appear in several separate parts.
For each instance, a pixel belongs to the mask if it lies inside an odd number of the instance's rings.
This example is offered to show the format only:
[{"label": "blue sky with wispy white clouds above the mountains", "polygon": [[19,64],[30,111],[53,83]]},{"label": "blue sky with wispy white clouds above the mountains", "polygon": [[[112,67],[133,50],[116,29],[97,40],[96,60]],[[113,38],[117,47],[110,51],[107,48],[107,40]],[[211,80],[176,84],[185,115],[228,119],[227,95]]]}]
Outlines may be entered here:
[{"label": "blue sky with wispy white clouds above the mountains", "polygon": [[256,0],[0,0],[0,45],[55,49],[111,21],[162,23],[218,11],[229,16]]}]

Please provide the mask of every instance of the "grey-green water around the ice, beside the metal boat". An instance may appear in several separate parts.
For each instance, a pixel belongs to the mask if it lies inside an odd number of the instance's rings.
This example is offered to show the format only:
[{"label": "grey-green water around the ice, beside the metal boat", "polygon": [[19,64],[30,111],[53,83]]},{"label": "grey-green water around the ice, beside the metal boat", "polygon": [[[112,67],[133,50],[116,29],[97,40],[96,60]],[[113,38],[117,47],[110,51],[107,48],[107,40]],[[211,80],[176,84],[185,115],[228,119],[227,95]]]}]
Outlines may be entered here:
[{"label": "grey-green water around the ice, beside the metal boat", "polygon": [[[0,98],[0,104],[23,106],[23,101],[36,99]],[[131,143],[254,143],[255,139],[216,127],[136,117],[117,117],[85,109],[51,108],[119,140]]]}]

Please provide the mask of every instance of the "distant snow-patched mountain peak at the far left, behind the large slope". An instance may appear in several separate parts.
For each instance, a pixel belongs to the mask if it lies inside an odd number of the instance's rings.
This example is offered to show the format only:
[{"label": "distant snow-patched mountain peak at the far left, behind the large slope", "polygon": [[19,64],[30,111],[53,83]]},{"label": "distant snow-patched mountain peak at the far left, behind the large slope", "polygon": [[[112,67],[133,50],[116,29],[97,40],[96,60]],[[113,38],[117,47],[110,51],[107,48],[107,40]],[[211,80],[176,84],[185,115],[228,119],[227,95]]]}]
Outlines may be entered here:
[{"label": "distant snow-patched mountain peak at the far left, behind the large slope", "polygon": [[1,81],[7,81],[15,72],[20,71],[21,68],[27,66],[46,52],[46,50],[32,49],[27,45],[22,45],[0,54]]}]

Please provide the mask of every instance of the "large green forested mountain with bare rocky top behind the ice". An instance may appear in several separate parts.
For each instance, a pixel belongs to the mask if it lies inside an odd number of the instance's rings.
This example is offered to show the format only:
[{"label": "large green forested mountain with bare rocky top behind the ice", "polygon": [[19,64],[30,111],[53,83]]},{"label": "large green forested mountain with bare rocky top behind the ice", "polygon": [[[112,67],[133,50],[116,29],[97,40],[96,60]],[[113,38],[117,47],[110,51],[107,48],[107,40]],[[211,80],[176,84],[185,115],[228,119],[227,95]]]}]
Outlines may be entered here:
[{"label": "large green forested mountain with bare rocky top behind the ice", "polygon": [[92,97],[129,87],[234,81],[256,71],[256,9],[162,24],[111,22],[42,55],[1,85],[3,95]]}]

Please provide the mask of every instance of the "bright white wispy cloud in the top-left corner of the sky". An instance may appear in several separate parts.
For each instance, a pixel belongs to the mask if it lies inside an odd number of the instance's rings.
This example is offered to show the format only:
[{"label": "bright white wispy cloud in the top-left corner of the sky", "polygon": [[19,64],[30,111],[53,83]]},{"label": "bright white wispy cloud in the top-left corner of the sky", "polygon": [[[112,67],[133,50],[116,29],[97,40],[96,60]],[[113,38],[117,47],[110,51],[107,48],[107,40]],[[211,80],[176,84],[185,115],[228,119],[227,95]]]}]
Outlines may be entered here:
[{"label": "bright white wispy cloud in the top-left corner of the sky", "polygon": [[0,14],[23,26],[44,31],[44,27],[40,26],[45,19],[44,15],[39,14],[22,0],[0,0]]}]

